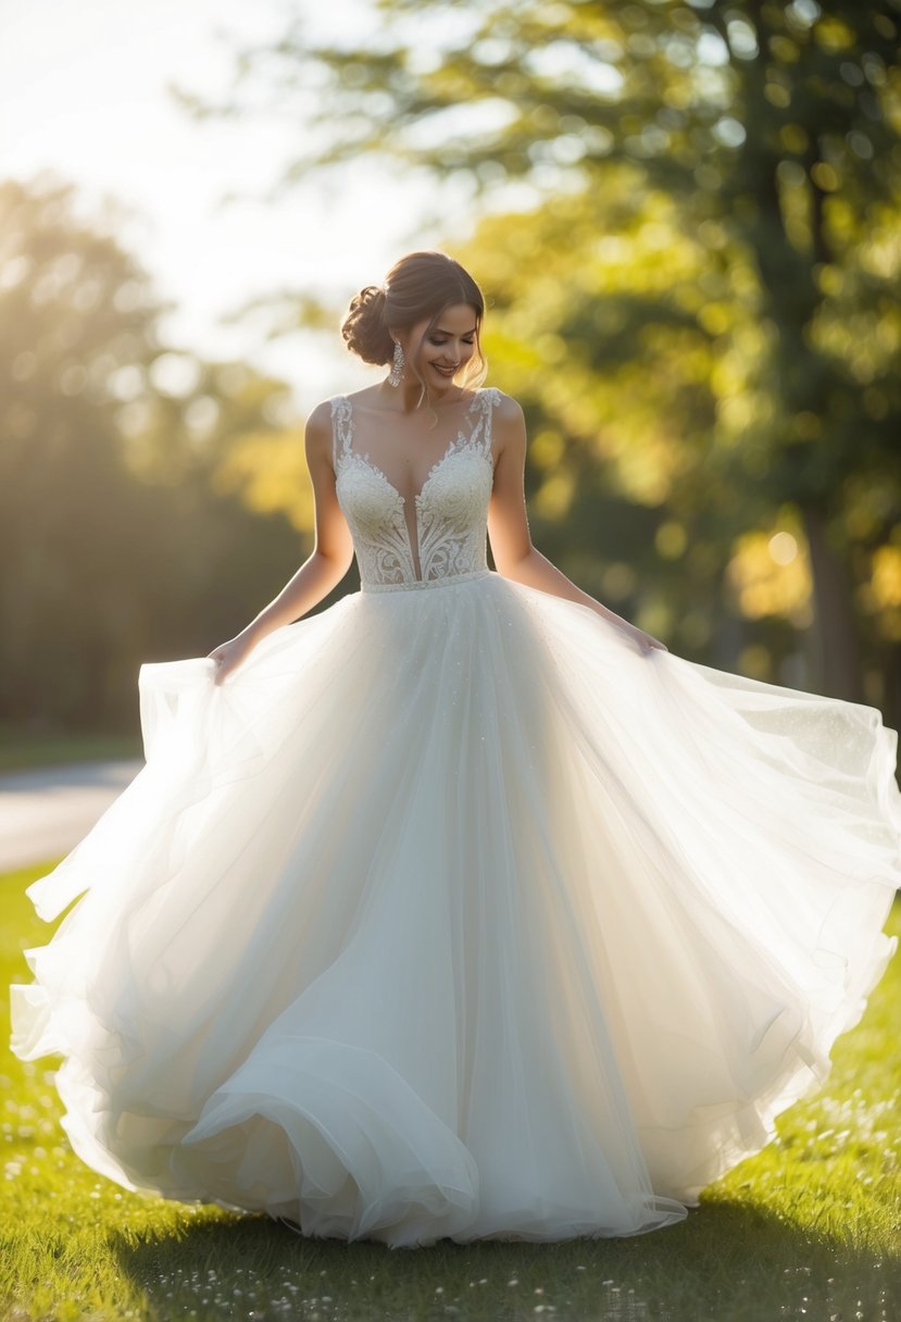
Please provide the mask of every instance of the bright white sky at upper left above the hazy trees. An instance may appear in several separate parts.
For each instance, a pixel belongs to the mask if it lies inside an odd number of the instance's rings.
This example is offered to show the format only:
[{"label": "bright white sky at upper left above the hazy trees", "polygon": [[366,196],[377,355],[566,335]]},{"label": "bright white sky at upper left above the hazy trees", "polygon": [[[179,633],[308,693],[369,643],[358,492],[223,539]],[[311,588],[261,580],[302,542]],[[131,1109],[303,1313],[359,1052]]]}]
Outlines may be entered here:
[{"label": "bright white sky at upper left above the hazy trees", "polygon": [[[347,354],[337,324],[332,342],[266,344],[259,317],[225,319],[285,288],[343,304],[404,251],[440,246],[447,234],[417,225],[424,185],[387,189],[359,161],[340,181],[267,200],[303,126],[197,122],[168,89],[223,93],[235,38],[280,33],[287,12],[328,36],[359,30],[370,11],[367,0],[0,0],[0,177],[74,182],[87,219],[104,197],[124,206],[119,241],[176,304],[162,324],[172,346],[273,371],[301,410],[357,389],[379,369]],[[226,205],[229,193],[242,200]]]}]

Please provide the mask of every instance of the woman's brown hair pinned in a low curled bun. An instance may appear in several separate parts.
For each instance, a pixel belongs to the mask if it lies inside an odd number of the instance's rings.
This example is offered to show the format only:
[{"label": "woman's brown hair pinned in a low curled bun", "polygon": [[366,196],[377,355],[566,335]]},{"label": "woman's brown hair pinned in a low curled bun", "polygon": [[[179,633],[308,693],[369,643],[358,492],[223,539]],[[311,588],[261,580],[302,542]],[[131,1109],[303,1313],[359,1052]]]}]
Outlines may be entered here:
[{"label": "woman's brown hair pinned in a low curled bun", "polygon": [[[481,385],[487,364],[480,344],[485,297],[476,280],[447,253],[408,253],[388,271],[384,286],[367,284],[350,300],[341,334],[363,362],[388,364],[394,357],[391,330],[408,330],[428,319],[423,340],[445,308],[466,303],[476,313],[476,353],[464,369],[464,385]],[[411,357],[419,353],[423,340]],[[420,378],[421,379],[421,378]],[[428,387],[423,382],[428,394]]]}]

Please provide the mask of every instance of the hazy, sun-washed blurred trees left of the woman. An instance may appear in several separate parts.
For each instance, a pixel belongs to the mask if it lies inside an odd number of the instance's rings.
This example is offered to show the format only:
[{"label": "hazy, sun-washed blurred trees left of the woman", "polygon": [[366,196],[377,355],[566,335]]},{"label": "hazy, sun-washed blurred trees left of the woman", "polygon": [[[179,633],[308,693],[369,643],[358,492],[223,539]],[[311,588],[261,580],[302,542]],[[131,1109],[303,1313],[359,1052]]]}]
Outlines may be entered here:
[{"label": "hazy, sun-washed blurred trees left of the woman", "polygon": [[77,204],[0,185],[0,719],[133,730],[139,665],[256,615],[309,497],[284,385],[161,344],[147,275]]}]

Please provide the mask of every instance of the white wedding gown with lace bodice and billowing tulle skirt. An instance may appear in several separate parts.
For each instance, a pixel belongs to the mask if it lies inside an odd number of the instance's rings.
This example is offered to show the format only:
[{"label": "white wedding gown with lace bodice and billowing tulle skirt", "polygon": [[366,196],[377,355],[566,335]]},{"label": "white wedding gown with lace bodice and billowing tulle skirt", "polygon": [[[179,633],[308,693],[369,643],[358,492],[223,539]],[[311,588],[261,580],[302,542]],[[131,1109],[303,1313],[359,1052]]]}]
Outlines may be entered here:
[{"label": "white wedding gown with lace bodice and billowing tulle skirt", "polygon": [[127,1188],[391,1247],[678,1222],[894,949],[897,734],[487,568],[495,390],[406,502],[333,401],[362,590],[144,665],[147,765],[29,887],[13,1050]]}]

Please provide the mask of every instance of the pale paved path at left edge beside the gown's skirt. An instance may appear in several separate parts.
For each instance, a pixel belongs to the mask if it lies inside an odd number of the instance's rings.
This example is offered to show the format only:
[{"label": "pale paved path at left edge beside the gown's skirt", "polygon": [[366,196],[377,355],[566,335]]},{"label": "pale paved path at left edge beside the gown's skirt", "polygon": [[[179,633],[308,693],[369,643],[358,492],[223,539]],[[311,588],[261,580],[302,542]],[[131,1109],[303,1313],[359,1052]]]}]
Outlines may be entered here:
[{"label": "pale paved path at left edge beside the gown's skirt", "polygon": [[85,761],[0,775],[0,871],[62,858],[143,765]]}]

